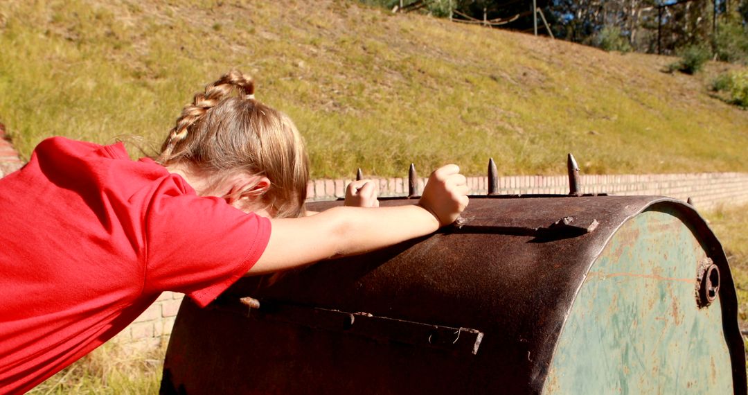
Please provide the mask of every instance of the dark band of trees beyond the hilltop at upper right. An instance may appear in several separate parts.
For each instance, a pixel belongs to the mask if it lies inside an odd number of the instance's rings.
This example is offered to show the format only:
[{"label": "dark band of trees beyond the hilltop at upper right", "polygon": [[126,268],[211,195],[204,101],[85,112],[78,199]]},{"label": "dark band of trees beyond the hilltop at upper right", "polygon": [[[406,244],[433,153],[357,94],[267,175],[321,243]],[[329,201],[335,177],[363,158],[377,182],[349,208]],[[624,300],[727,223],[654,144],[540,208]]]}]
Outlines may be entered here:
[{"label": "dark band of trees beyond the hilltop at upper right", "polygon": [[[399,0],[360,0],[392,9]],[[506,0],[404,0],[420,4],[410,9],[434,16],[449,16],[458,10],[474,19],[509,19],[502,25],[517,31],[531,31],[533,17],[526,1]],[[662,0],[538,0],[537,7],[551,25],[554,37],[575,43],[598,46],[608,51],[657,52],[672,55],[677,49],[711,44],[723,61],[740,62],[746,58],[748,40],[748,0],[738,7],[727,7],[717,0],[717,29],[714,29],[714,1]],[[458,16],[458,19],[462,19]],[[614,34],[610,28],[618,28]],[[716,37],[714,31],[717,31]],[[539,29],[545,34],[545,29]],[[619,37],[620,36],[620,37]],[[628,45],[627,42],[628,41]]]}]

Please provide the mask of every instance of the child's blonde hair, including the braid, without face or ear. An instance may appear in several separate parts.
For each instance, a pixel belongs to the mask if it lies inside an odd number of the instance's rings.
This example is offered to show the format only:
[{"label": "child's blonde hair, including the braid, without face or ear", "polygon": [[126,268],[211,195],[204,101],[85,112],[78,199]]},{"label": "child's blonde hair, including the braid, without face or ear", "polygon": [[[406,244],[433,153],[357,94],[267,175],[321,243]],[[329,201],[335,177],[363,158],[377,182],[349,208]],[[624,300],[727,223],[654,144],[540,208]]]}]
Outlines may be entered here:
[{"label": "child's blonde hair, including the braid, without face or ear", "polygon": [[275,217],[303,214],[309,160],[301,135],[286,114],[254,99],[254,82],[239,71],[195,94],[161,149],[162,165],[188,168],[216,185],[237,174],[266,177],[266,188],[236,193]]}]

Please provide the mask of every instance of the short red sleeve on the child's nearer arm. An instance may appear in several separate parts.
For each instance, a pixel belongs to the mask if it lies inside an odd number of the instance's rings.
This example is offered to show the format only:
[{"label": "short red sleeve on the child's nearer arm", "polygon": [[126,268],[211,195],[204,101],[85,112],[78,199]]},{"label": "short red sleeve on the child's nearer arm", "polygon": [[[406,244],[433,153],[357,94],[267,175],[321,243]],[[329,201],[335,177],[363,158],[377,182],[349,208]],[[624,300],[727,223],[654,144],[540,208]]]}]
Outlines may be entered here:
[{"label": "short red sleeve on the child's nearer arm", "polygon": [[144,292],[186,293],[204,307],[257,263],[270,221],[218,197],[183,194],[175,181],[164,180],[144,213]]}]

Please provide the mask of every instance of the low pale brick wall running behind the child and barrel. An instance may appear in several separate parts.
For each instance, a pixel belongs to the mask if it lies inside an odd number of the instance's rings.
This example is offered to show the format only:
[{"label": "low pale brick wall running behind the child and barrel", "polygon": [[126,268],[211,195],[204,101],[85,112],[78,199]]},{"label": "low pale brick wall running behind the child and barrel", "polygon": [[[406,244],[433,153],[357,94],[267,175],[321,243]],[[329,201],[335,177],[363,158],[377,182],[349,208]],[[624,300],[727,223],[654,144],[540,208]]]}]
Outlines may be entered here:
[{"label": "low pale brick wall running behind the child and barrel", "polygon": [[[0,177],[20,168],[22,161],[7,141],[0,123]],[[408,180],[404,178],[382,178],[374,180],[382,197],[404,196],[408,192]],[[307,200],[332,200],[343,197],[350,180],[313,180],[309,183]],[[499,177],[499,193],[506,195],[560,194],[568,193],[565,176],[509,176]],[[418,180],[418,191],[423,190],[426,179]],[[748,203],[747,173],[702,173],[702,174],[624,174],[589,175],[580,179],[584,193],[608,193],[610,195],[663,195],[681,200],[691,198],[699,210],[714,209],[720,205]],[[487,177],[468,177],[471,194],[488,192]],[[177,316],[183,295],[163,293],[131,325],[114,337],[113,341],[126,343],[132,349],[143,346],[159,346],[168,340],[174,319]]]}]

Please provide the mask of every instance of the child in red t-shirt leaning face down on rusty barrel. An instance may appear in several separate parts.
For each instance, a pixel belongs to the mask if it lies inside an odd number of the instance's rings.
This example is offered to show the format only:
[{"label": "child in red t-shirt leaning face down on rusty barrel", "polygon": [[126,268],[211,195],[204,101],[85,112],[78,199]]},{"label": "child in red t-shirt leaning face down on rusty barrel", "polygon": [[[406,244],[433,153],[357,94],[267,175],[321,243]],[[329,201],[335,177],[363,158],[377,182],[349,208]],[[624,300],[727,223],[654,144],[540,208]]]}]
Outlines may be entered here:
[{"label": "child in red t-shirt leaning face down on rusty barrel", "polygon": [[[239,91],[239,97],[233,94]],[[434,232],[468,204],[455,165],[419,204],[304,212],[304,144],[232,71],[186,105],[154,161],[49,138],[0,180],[0,393],[28,391],[117,334],[162,291],[209,304],[242,275]],[[371,184],[347,204],[377,206]]]}]

